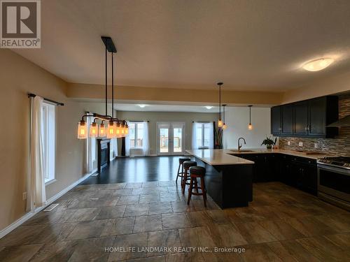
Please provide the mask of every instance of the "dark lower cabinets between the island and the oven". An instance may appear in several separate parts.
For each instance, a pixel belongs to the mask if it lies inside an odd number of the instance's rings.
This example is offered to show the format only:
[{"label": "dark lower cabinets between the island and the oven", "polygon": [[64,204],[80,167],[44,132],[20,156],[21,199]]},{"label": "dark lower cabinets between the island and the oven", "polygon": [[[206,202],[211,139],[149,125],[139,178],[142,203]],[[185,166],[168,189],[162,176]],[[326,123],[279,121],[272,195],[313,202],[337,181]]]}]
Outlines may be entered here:
[{"label": "dark lower cabinets between the island and the oven", "polygon": [[280,181],[316,195],[316,160],[287,154],[236,154],[254,161],[253,182]]}]

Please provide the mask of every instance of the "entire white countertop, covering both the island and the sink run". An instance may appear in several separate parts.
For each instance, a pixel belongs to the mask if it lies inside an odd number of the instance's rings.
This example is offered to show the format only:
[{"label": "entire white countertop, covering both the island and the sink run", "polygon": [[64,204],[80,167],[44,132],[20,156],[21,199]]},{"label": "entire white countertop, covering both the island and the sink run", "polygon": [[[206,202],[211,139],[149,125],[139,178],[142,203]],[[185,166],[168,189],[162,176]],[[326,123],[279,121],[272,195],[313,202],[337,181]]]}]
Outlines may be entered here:
[{"label": "entire white countertop, covering both the island and the sink run", "polygon": [[[233,150],[233,149],[232,149]],[[211,166],[219,165],[240,165],[254,163],[241,157],[232,156],[232,154],[288,154],[295,157],[306,157],[309,159],[318,159],[322,157],[330,157],[328,154],[307,154],[305,152],[296,152],[292,150],[267,150],[267,149],[247,149],[250,151],[237,152],[235,150],[186,150],[188,154],[208,163]],[[243,149],[244,150],[244,149]]]}]

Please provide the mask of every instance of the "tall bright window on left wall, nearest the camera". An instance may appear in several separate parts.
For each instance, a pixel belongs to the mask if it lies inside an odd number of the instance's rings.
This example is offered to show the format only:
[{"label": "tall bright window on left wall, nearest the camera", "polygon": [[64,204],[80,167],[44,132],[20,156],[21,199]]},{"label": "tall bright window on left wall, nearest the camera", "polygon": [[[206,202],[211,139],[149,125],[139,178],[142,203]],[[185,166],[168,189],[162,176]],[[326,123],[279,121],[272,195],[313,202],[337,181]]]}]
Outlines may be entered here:
[{"label": "tall bright window on left wall, nearest the camera", "polygon": [[43,138],[43,173],[45,183],[55,180],[56,159],[56,106],[43,102],[41,115]]}]

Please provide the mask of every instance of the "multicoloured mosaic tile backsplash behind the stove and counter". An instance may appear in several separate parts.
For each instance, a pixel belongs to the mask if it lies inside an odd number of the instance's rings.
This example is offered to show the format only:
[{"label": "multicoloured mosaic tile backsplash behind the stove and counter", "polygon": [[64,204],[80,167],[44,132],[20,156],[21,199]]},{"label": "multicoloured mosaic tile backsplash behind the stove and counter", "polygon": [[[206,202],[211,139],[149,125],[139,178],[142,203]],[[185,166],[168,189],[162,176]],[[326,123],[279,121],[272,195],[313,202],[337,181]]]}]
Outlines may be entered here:
[{"label": "multicoloured mosaic tile backsplash behind the stove and counter", "polygon": [[[350,95],[339,96],[339,118],[350,115]],[[290,141],[290,145],[288,145]],[[299,147],[299,143],[303,147]],[[314,145],[318,144],[318,148]],[[325,154],[350,156],[350,127],[339,129],[335,138],[279,138],[279,147],[287,150],[310,150]]]}]

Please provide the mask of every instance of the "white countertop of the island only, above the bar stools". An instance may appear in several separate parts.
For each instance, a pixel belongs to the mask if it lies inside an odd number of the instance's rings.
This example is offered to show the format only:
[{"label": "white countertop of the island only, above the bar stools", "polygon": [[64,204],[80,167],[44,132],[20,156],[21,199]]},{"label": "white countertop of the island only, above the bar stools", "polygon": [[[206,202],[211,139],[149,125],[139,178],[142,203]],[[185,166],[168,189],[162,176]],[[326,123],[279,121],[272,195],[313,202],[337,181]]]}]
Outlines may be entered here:
[{"label": "white countertop of the island only, above the bar stools", "polygon": [[208,163],[211,166],[219,165],[241,165],[254,163],[241,157],[235,157],[228,153],[230,150],[186,150],[188,154],[197,157],[205,163]]}]

